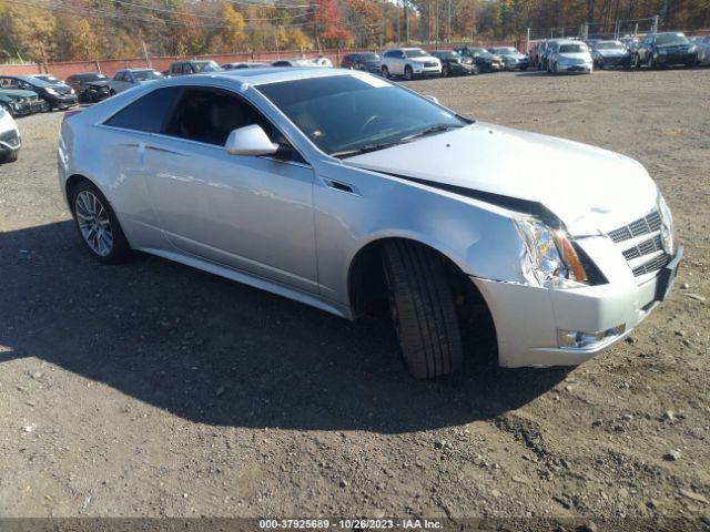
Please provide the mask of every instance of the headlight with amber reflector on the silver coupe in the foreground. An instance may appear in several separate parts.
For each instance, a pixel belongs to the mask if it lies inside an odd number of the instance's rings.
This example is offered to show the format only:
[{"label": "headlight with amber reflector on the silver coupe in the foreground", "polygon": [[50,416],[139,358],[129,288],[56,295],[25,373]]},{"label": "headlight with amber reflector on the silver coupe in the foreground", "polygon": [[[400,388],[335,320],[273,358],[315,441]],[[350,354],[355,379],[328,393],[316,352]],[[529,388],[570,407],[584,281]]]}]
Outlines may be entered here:
[{"label": "headlight with amber reflector on the silver coupe in the foreground", "polygon": [[516,218],[525,244],[523,275],[546,288],[579,288],[587,282],[575,248],[562,231],[552,229],[536,218]]}]

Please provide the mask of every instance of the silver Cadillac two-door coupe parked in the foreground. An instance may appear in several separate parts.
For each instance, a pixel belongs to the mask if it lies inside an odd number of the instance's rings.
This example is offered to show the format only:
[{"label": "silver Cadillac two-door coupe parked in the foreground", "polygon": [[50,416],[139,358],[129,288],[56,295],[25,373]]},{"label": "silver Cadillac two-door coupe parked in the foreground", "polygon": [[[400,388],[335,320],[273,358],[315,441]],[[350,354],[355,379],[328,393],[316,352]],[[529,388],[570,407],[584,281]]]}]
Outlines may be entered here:
[{"label": "silver Cadillac two-door coupe parked in the foreground", "polygon": [[63,121],[59,178],[99,260],[139,249],[347,319],[382,301],[417,378],[457,370],[477,327],[501,366],[580,364],[666,297],[682,256],[636,161],[363,72],[136,86]]}]

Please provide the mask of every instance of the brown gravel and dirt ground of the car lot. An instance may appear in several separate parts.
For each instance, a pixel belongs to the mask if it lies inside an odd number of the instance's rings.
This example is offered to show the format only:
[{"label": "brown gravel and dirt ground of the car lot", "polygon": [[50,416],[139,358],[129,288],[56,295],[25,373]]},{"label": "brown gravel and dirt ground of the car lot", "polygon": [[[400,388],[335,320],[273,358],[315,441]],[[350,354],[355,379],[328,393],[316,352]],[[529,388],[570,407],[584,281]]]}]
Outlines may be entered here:
[{"label": "brown gravel and dirt ground of the car lot", "polygon": [[670,300],[574,370],[416,382],[383,319],[148,256],[98,264],[57,185],[61,114],[20,119],[0,166],[0,516],[710,526],[710,70],[410,86],[640,160],[686,246]]}]

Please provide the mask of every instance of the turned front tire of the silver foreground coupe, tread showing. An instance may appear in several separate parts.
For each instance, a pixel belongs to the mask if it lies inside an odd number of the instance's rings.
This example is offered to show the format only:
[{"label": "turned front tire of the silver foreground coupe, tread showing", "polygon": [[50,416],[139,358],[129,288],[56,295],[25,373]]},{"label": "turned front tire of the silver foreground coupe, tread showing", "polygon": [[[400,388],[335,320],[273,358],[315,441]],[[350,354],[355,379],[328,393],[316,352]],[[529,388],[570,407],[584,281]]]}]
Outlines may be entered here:
[{"label": "turned front tire of the silver foreground coupe, tread showing", "polygon": [[392,318],[409,374],[432,379],[458,371],[462,336],[442,257],[407,241],[384,246]]}]

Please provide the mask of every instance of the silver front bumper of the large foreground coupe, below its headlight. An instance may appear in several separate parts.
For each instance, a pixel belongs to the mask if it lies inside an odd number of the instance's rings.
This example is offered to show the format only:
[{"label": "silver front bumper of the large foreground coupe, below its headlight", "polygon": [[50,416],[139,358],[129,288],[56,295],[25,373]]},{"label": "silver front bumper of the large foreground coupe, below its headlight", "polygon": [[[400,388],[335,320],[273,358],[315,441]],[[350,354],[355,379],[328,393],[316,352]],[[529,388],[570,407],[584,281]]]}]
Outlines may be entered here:
[{"label": "silver front bumper of the large foreground coupe, below its headlight", "polygon": [[629,335],[668,295],[682,247],[641,284],[551,289],[471,277],[496,327],[503,367],[577,366]]}]

